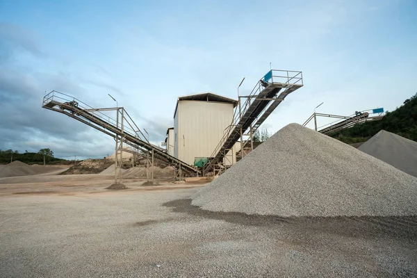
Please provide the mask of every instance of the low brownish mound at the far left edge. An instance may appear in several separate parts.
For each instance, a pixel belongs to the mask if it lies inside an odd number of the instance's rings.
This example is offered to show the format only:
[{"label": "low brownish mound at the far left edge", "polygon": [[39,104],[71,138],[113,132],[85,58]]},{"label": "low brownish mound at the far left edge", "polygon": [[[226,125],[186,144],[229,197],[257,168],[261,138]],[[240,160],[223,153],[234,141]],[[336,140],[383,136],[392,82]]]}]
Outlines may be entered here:
[{"label": "low brownish mound at the far left edge", "polygon": [[43,165],[27,165],[20,161],[13,161],[7,165],[0,165],[0,177],[17,177],[28,176],[32,174],[44,174],[62,169],[55,166],[43,166]]}]

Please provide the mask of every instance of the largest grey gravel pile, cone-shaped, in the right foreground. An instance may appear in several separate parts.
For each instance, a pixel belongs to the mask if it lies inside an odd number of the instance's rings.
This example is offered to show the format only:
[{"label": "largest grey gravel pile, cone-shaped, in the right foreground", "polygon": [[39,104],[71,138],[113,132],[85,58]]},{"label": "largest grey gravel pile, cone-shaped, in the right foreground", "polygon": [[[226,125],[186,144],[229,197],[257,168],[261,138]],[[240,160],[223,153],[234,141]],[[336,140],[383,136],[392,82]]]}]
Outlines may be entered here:
[{"label": "largest grey gravel pile, cone-shaped, in the right foreground", "polygon": [[417,215],[417,179],[343,142],[288,124],[193,196],[209,211]]}]

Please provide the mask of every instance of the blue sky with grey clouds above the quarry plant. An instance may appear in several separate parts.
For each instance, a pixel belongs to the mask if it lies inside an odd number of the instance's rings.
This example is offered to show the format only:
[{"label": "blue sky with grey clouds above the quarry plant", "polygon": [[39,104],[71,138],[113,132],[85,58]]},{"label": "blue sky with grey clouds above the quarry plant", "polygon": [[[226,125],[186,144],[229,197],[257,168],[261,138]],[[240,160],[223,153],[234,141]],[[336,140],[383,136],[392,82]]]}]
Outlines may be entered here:
[{"label": "blue sky with grey clouds above the quarry plant", "polygon": [[[154,143],[177,97],[237,97],[275,69],[300,70],[263,124],[318,112],[392,111],[417,92],[417,1],[0,1],[0,149],[113,153],[113,138],[41,108],[58,90],[129,111]],[[319,121],[325,124],[325,120]]]}]

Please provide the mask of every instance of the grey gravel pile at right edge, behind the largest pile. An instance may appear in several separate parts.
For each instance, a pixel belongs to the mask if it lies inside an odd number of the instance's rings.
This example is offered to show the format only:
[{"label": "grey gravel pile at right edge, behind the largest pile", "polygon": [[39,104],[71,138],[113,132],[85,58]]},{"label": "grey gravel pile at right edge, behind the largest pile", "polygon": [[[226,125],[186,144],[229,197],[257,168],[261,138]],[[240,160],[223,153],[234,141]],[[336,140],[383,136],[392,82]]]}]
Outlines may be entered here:
[{"label": "grey gravel pile at right edge, behind the largest pile", "polygon": [[382,130],[358,149],[417,177],[417,142]]}]

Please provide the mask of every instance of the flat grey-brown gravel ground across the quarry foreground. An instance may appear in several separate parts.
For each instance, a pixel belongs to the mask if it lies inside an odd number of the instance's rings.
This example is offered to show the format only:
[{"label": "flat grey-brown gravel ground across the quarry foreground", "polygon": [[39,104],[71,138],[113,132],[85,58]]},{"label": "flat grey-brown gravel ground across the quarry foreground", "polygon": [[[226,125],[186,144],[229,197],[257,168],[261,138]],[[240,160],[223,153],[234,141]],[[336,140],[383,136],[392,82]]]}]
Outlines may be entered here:
[{"label": "flat grey-brown gravel ground across the quarry foreground", "polygon": [[202,184],[0,179],[0,277],[417,277],[417,218],[278,218],[190,206]]}]

